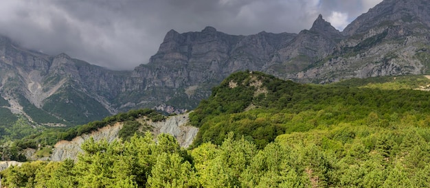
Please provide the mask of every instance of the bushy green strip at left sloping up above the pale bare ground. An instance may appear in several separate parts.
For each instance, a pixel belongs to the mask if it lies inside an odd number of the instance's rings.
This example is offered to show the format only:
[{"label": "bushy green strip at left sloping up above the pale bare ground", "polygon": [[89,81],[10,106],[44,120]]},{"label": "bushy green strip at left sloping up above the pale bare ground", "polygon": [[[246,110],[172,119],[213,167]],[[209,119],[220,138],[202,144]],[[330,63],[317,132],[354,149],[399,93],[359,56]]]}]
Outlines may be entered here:
[{"label": "bushy green strip at left sloping up above the pale bare ground", "polygon": [[[37,149],[39,146],[45,147],[45,145],[54,145],[60,140],[71,141],[71,139],[77,136],[90,133],[104,126],[113,125],[117,122],[124,122],[124,130],[121,130],[120,137],[126,140],[133,136],[137,130],[139,130],[138,132],[150,130],[149,126],[142,125],[136,121],[136,119],[139,118],[146,118],[152,121],[163,121],[166,119],[165,116],[161,115],[161,113],[157,113],[155,110],[140,109],[130,110],[127,113],[118,113],[117,115],[106,117],[102,121],[91,121],[88,124],[72,128],[43,128],[41,126],[36,126],[36,128],[33,128],[32,124],[25,121],[24,118],[21,118],[10,127],[1,129],[0,126],[0,130],[5,132],[5,134],[1,135],[3,137],[3,141],[14,141],[12,145],[17,150],[23,150],[26,148]],[[3,147],[8,148],[9,146]],[[12,154],[9,153],[0,153],[0,157],[5,158],[18,158],[17,155],[12,156]],[[46,152],[43,152],[40,155],[45,156]],[[21,157],[19,161],[25,161],[25,158]]]}]

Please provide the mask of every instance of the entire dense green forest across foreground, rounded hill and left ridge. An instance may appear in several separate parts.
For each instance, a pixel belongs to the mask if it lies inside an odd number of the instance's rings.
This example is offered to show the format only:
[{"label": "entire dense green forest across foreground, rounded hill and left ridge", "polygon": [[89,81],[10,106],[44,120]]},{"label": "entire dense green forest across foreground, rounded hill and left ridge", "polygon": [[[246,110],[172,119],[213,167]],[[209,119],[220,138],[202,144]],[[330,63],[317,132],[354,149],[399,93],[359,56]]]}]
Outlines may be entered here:
[{"label": "entire dense green forest across foreground, rounded hill and left ridge", "polygon": [[0,175],[8,187],[430,187],[429,85],[424,76],[314,85],[238,72],[190,114],[200,130],[188,149],[168,134],[132,137],[136,117],[165,117],[131,111],[100,121],[128,122],[118,141],[89,140],[77,161]]}]

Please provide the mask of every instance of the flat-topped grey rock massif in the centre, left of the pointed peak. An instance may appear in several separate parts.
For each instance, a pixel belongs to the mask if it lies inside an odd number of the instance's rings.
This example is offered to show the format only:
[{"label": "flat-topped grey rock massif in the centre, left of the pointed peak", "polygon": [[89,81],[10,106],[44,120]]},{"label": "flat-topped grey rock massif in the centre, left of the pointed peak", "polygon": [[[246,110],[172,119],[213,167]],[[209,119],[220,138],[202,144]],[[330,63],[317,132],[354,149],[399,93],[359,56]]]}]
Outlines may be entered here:
[{"label": "flat-topped grey rock massif in the centre, left of the pointed peak", "polygon": [[[132,82],[138,85],[133,102],[117,97],[120,108],[168,106],[169,113],[194,108],[210,89],[227,75],[239,70],[262,70],[282,43],[295,34],[260,32],[251,36],[234,36],[205,27],[201,32],[179,34],[170,30],[157,54],[148,64],[136,67]],[[192,91],[192,92],[189,92]],[[125,105],[124,105],[125,104]],[[179,109],[178,109],[179,108]],[[181,110],[183,109],[183,110]]]}]

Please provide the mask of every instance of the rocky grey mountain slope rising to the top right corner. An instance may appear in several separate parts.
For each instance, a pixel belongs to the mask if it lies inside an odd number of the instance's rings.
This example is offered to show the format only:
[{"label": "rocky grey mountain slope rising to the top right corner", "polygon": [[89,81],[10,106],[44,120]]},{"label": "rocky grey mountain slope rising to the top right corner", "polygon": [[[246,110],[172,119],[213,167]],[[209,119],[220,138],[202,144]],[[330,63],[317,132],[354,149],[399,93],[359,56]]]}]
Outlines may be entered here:
[{"label": "rocky grey mountain slope rising to the top right corner", "polygon": [[427,1],[383,1],[346,27],[332,54],[291,78],[325,83],[428,73],[429,13]]}]

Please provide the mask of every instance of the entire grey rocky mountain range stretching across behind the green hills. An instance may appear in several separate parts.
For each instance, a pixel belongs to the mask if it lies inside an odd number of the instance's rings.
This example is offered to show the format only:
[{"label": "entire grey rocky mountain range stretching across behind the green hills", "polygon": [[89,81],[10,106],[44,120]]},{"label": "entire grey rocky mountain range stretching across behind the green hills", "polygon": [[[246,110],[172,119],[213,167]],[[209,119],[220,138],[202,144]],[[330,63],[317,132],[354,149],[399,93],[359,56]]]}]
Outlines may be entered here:
[{"label": "entire grey rocky mountain range stretching across behind the green hills", "polygon": [[[49,56],[0,37],[0,126],[85,124],[133,108],[194,109],[236,71],[262,71],[296,82],[429,73],[430,3],[385,0],[339,32],[319,15],[299,34],[170,30],[148,64],[112,71]],[[124,57],[126,58],[126,57]]]}]

